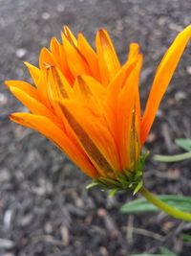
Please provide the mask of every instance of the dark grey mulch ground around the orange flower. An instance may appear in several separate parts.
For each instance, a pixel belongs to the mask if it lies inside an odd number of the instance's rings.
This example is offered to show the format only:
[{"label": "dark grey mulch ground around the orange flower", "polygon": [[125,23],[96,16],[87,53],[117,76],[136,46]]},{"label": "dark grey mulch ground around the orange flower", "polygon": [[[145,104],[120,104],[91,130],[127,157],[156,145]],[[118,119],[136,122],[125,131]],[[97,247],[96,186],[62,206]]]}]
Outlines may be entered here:
[{"label": "dark grey mulch ground around the orange flower", "polygon": [[[159,59],[175,35],[191,23],[190,0],[0,0],[0,255],[129,256],[157,253],[163,245],[191,255],[189,223],[162,213],[125,216],[120,206],[132,197],[108,198],[48,140],[8,120],[22,111],[4,80],[28,80],[23,60],[37,64],[42,46],[59,37],[64,24],[82,31],[94,44],[105,27],[124,61],[137,41],[144,55],[141,96],[144,105]],[[175,138],[191,137],[191,48],[160,105],[147,147],[153,153],[180,152]],[[190,161],[145,166],[146,185],[159,194],[191,195]],[[147,230],[147,231],[146,231]]]}]

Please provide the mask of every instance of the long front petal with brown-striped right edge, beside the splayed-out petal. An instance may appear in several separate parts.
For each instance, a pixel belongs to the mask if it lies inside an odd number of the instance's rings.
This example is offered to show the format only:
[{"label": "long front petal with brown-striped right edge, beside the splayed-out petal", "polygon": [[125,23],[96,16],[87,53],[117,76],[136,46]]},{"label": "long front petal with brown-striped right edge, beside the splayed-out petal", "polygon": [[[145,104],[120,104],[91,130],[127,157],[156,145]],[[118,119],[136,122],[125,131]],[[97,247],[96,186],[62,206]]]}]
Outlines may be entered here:
[{"label": "long front petal with brown-striped right edge, beside the splayed-out petal", "polygon": [[139,55],[135,69],[132,71],[129,79],[125,82],[118,96],[117,134],[122,170],[131,170],[132,163],[135,164],[137,154],[139,153],[136,151],[139,142],[139,128],[135,127],[138,125],[138,122],[136,122],[137,112],[135,105],[141,64],[142,57]]}]

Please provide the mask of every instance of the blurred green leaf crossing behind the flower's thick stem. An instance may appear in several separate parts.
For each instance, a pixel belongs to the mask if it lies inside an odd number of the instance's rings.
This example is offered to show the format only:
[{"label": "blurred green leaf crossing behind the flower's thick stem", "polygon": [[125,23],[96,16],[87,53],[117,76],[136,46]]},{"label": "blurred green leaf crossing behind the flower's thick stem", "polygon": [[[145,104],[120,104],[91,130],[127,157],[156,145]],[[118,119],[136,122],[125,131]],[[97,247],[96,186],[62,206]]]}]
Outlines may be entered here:
[{"label": "blurred green leaf crossing behind the flower's thick stem", "polygon": [[[191,212],[191,197],[163,195],[159,199],[184,212]],[[138,198],[123,204],[120,212],[123,214],[138,214],[144,212],[157,212],[159,209],[145,198]]]}]

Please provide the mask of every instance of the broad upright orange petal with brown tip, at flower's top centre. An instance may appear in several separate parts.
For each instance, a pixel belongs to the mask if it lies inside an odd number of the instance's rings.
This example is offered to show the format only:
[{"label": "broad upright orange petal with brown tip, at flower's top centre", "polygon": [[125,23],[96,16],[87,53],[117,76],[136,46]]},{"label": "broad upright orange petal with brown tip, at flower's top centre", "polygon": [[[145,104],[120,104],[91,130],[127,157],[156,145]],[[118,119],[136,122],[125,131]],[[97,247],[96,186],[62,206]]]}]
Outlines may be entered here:
[{"label": "broad upright orange petal with brown tip, at flower's top centre", "polygon": [[96,51],[98,55],[99,70],[105,86],[117,75],[120,63],[107,31],[99,30],[96,34]]}]

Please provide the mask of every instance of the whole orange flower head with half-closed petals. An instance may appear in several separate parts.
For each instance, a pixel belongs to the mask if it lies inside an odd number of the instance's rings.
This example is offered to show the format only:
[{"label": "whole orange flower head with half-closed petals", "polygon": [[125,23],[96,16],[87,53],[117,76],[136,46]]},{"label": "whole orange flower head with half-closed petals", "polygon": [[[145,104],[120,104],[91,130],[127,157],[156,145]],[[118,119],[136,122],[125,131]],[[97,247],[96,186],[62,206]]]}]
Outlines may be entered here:
[{"label": "whole orange flower head with half-closed petals", "polygon": [[68,27],[61,37],[62,43],[53,37],[50,50],[42,49],[39,68],[25,63],[34,86],[6,81],[31,111],[11,114],[11,120],[44,134],[94,179],[115,182],[137,174],[142,146],[191,37],[191,25],[162,58],[142,118],[138,44],[130,45],[128,59],[121,65],[103,29],[96,34],[96,52],[81,33],[75,38]]}]

